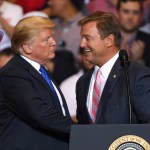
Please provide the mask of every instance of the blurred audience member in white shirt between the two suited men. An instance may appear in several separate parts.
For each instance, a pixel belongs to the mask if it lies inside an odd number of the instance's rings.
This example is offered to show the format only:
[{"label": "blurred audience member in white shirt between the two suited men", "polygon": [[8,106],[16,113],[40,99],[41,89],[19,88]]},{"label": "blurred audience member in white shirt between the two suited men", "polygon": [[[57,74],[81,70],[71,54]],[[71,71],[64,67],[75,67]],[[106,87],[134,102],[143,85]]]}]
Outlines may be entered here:
[{"label": "blurred audience member in white shirt between the two suited men", "polygon": [[76,119],[77,104],[76,104],[76,95],[75,95],[76,82],[81,75],[83,75],[93,66],[90,62],[88,62],[85,59],[85,54],[82,48],[80,48],[79,51],[79,63],[80,63],[80,70],[76,74],[70,76],[60,84],[60,89],[62,90],[65,96],[70,115],[74,121],[77,121]]}]

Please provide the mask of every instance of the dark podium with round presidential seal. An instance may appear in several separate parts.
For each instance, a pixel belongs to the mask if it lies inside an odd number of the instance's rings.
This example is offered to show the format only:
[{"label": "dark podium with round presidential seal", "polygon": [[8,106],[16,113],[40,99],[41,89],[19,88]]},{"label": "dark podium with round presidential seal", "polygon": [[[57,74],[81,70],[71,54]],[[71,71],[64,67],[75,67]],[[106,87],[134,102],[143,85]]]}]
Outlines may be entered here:
[{"label": "dark podium with round presidential seal", "polygon": [[72,125],[69,150],[150,150],[150,125]]}]

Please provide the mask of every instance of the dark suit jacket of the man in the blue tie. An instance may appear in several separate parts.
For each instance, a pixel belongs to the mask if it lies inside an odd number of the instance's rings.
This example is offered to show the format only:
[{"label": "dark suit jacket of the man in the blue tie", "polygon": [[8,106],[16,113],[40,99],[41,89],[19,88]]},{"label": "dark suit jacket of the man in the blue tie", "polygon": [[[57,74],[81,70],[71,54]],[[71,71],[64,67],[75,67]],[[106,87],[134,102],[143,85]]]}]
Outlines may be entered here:
[{"label": "dark suit jacket of the man in the blue tie", "polygon": [[71,118],[56,84],[66,116],[39,72],[20,56],[1,70],[0,85],[0,150],[68,149]]}]

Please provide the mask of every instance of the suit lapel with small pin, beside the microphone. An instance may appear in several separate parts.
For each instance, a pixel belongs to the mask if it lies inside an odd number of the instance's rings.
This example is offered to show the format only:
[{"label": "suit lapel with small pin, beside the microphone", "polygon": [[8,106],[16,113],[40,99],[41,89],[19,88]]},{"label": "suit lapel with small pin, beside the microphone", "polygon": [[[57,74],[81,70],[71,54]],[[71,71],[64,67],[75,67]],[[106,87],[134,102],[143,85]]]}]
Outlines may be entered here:
[{"label": "suit lapel with small pin, beside the microphone", "polygon": [[106,84],[105,84],[105,87],[104,87],[104,90],[100,99],[95,123],[102,122],[102,117],[103,117],[102,112],[105,110],[108,99],[111,97],[112,90],[114,89],[118,81],[118,78],[121,75],[121,72],[122,72],[122,68],[120,66],[120,61],[119,59],[117,59],[106,81]]}]

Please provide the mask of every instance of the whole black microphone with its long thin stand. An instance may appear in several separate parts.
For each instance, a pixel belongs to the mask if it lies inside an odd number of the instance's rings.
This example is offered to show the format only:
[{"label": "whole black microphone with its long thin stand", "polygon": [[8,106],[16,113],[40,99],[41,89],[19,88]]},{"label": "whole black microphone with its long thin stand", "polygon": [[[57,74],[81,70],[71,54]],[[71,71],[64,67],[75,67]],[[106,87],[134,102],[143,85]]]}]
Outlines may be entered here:
[{"label": "whole black microphone with its long thin stand", "polygon": [[121,61],[121,66],[124,68],[124,71],[125,71],[128,106],[129,106],[129,124],[131,124],[132,123],[132,105],[131,105],[131,95],[130,95],[130,81],[129,81],[129,75],[128,75],[128,67],[130,65],[130,62],[128,60],[128,54],[126,50],[124,49],[120,50],[119,59]]}]

